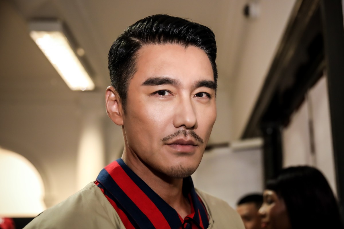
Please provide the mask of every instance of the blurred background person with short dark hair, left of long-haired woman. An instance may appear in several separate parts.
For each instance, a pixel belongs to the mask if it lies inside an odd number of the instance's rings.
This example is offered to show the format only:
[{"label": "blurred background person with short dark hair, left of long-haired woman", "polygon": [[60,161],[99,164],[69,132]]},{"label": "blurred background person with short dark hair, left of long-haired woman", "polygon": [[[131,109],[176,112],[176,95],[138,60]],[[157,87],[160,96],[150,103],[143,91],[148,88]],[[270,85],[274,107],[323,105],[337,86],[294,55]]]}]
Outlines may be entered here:
[{"label": "blurred background person with short dark hair, left of long-haired woman", "polygon": [[246,229],[260,229],[261,220],[258,210],[263,203],[261,194],[248,194],[241,197],[237,203],[237,212],[241,216]]}]

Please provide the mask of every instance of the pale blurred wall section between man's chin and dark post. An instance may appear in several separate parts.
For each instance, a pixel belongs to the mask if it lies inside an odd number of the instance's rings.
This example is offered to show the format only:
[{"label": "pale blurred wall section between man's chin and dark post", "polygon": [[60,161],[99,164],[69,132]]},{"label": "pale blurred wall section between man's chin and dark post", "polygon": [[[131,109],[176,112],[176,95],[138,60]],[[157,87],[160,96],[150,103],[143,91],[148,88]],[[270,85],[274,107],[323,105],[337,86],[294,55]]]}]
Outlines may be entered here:
[{"label": "pale blurred wall section between man's chin and dark post", "polygon": [[222,198],[233,208],[242,196],[263,191],[261,145],[255,140],[237,144],[241,144],[240,149],[217,148],[205,152],[192,175],[195,187]]}]

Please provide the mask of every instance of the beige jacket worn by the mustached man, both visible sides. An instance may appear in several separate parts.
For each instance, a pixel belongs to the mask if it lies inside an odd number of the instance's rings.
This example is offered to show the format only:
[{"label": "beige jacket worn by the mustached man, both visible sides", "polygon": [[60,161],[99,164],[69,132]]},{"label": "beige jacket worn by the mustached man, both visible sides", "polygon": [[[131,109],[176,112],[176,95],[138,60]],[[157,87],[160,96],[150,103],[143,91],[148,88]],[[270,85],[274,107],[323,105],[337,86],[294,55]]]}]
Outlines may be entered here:
[{"label": "beige jacket worn by the mustached man, both visible sides", "polygon": [[[245,229],[237,212],[226,202],[196,190],[209,214],[208,229]],[[117,212],[94,184],[49,208],[34,218],[24,229],[125,229]]]}]

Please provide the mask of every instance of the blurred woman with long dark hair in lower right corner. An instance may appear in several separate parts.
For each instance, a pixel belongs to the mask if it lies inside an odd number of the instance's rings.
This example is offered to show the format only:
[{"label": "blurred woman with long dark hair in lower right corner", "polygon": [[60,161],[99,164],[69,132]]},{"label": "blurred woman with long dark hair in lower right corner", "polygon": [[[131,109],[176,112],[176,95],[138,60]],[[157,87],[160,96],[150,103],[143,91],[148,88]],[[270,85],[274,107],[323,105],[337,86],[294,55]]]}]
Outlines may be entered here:
[{"label": "blurred woman with long dark hair in lower right corner", "polygon": [[324,175],[316,168],[282,169],[267,182],[259,209],[262,228],[343,229],[337,201]]}]

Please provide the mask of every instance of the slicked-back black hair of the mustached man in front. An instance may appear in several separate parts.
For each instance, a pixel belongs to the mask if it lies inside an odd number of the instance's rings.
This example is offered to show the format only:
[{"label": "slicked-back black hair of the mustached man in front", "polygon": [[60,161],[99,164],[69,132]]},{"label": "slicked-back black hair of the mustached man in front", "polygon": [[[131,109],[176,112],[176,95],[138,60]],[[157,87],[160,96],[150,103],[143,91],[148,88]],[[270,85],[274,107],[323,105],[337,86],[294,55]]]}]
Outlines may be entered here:
[{"label": "slicked-back black hair of the mustached man in front", "polygon": [[118,92],[124,111],[129,80],[136,71],[138,50],[148,44],[179,44],[202,49],[211,62],[214,81],[217,83],[217,47],[215,35],[210,28],[166,14],[148,16],[129,26],[116,39],[109,51],[111,86]]}]

